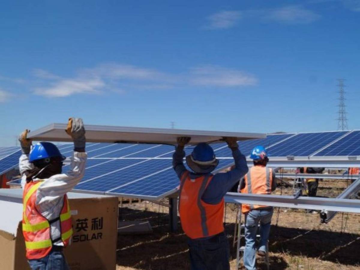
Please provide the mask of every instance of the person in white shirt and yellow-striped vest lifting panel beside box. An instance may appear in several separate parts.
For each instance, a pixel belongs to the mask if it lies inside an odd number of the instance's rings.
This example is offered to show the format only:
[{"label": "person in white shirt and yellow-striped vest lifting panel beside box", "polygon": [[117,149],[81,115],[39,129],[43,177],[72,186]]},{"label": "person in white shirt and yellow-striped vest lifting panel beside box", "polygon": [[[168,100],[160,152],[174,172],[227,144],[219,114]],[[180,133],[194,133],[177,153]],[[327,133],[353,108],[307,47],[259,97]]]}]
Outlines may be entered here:
[{"label": "person in white shirt and yellow-striped vest lifting panel beside box", "polygon": [[[72,225],[66,193],[84,176],[85,129],[81,118],[70,118],[66,132],[74,142],[69,171],[62,173],[64,156],[52,143],[32,147],[28,130],[19,137],[22,155],[23,220],[26,257],[31,269],[69,269],[63,249],[71,242]],[[32,148],[32,149],[31,149]]]}]

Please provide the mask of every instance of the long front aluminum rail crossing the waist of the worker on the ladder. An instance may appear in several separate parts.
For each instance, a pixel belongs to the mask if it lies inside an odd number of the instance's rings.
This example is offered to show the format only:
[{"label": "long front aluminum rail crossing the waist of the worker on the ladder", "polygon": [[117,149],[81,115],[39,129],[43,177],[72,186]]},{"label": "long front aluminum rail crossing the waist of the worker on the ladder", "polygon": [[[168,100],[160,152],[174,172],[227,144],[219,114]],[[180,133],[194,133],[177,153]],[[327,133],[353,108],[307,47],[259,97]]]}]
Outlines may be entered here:
[{"label": "long front aluminum rail crossing the waist of the worker on the ladder", "polygon": [[297,209],[313,209],[321,211],[337,211],[360,213],[360,200],[334,199],[318,197],[298,197],[284,195],[242,194],[229,192],[225,202],[237,204],[258,204],[274,207]]}]

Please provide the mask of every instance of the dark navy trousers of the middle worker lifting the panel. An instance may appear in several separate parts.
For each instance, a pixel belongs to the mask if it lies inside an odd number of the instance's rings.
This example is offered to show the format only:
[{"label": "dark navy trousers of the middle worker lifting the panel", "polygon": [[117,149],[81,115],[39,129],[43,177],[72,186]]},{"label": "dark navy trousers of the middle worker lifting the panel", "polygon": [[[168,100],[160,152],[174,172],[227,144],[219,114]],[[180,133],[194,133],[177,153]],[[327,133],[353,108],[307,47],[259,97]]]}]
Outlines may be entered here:
[{"label": "dark navy trousers of the middle worker lifting the panel", "polygon": [[229,270],[229,241],[225,233],[208,239],[188,239],[191,270]]}]

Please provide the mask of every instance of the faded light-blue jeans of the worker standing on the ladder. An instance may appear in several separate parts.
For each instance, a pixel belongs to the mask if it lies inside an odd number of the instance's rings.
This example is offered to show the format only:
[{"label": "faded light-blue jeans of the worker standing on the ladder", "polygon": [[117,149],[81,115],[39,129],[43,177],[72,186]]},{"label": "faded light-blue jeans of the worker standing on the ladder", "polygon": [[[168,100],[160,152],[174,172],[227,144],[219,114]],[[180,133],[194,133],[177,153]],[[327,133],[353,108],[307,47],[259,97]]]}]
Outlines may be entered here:
[{"label": "faded light-blue jeans of the worker standing on the ladder", "polygon": [[256,270],[256,233],[260,222],[260,243],[259,250],[266,252],[266,243],[269,239],[271,217],[273,216],[273,208],[258,208],[245,214],[245,251],[244,266],[247,270]]}]

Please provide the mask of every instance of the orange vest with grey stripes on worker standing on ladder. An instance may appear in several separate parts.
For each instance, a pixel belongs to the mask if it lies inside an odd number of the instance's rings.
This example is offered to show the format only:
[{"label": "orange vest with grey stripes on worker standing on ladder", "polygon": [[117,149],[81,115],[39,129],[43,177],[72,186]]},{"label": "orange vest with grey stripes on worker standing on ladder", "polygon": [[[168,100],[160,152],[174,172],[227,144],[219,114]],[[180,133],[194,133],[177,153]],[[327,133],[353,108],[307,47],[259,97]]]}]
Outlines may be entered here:
[{"label": "orange vest with grey stripes on worker standing on ladder", "polygon": [[[250,168],[247,175],[244,176],[245,187],[241,193],[248,194],[271,194],[271,184],[273,180],[273,171],[265,166],[253,166]],[[269,206],[256,205],[256,204],[242,204],[241,210],[244,213],[252,209],[263,208]]]}]

